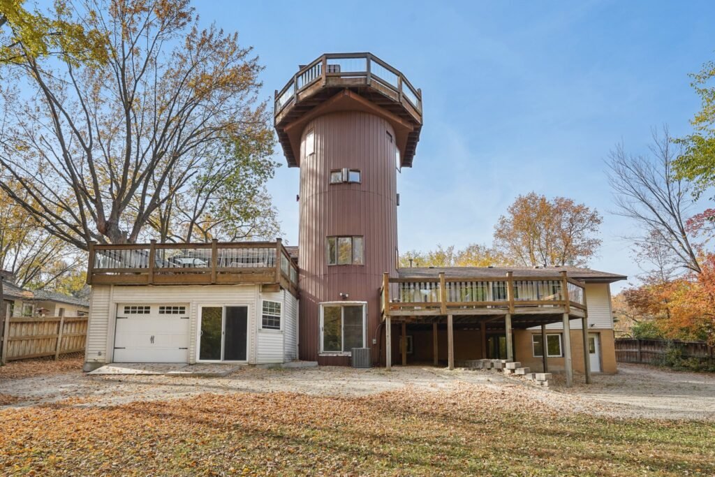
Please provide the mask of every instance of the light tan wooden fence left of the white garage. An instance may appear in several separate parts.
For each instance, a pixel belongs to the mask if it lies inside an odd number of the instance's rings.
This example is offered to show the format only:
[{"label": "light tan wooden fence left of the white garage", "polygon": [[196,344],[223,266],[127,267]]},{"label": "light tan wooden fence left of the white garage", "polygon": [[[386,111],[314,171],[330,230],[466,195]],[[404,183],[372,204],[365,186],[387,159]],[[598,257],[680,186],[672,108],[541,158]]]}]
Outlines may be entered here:
[{"label": "light tan wooden fence left of the white garage", "polygon": [[11,317],[6,319],[1,360],[39,358],[84,351],[87,317]]}]

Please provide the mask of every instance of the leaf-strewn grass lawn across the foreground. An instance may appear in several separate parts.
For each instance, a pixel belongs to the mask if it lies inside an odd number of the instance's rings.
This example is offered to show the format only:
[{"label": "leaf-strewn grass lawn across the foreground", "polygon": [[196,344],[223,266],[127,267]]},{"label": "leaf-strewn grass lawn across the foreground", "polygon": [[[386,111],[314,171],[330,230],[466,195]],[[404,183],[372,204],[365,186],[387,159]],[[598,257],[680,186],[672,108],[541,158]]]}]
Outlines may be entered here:
[{"label": "leaf-strewn grass lawn across the foreground", "polygon": [[0,411],[0,473],[715,475],[715,424],[561,415],[464,385]]}]

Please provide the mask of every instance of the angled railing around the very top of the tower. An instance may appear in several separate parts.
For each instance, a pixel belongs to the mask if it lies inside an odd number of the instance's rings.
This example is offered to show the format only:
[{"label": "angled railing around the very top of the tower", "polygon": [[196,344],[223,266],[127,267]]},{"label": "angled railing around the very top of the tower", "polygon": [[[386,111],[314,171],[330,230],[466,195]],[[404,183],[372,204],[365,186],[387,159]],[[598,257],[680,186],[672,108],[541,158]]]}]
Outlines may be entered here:
[{"label": "angled railing around the very top of the tower", "polygon": [[422,92],[413,87],[397,69],[370,53],[324,54],[305,67],[300,68],[280,91],[275,92],[274,114],[290,103],[297,102],[300,92],[316,82],[326,84],[330,78],[349,79],[363,84],[372,84],[385,92],[394,93],[398,102],[407,102],[410,109],[422,116]]}]

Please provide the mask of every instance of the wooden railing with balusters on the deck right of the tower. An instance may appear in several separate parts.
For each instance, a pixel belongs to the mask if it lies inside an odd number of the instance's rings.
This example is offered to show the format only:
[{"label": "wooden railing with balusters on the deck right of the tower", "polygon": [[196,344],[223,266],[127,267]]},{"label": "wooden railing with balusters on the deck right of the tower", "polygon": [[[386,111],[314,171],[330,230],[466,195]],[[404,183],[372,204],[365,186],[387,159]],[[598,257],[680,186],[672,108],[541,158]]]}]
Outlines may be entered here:
[{"label": "wooden railing with balusters on the deck right of the tower", "polygon": [[[566,290],[566,291],[564,291]],[[561,307],[586,312],[584,284],[565,274],[551,277],[390,278],[380,288],[383,315],[419,311],[447,314],[450,310],[503,309],[524,313],[527,308]]]}]

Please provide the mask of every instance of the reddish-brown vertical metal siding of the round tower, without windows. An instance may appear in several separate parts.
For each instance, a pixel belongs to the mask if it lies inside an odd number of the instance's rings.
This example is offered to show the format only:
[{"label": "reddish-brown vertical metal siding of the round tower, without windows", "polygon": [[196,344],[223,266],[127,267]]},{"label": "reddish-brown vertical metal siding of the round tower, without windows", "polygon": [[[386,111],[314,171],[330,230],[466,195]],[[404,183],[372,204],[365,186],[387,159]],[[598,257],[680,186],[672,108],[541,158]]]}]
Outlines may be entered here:
[{"label": "reddish-brown vertical metal siding of the round tower, without windows", "polygon": [[[305,157],[305,135],[315,131],[315,154]],[[397,170],[395,132],[384,119],[365,112],[334,112],[317,117],[302,132],[300,160],[300,358],[318,360],[319,303],[368,302],[366,343],[380,323],[383,272],[396,276]],[[394,140],[394,139],[393,139]],[[330,170],[360,169],[360,184],[330,185]],[[325,237],[363,235],[365,265],[325,263]],[[373,359],[378,353],[373,349]],[[345,358],[322,359],[347,364]]]}]

